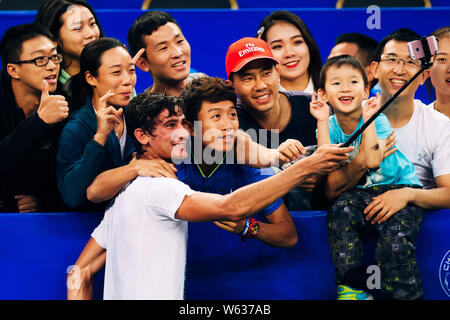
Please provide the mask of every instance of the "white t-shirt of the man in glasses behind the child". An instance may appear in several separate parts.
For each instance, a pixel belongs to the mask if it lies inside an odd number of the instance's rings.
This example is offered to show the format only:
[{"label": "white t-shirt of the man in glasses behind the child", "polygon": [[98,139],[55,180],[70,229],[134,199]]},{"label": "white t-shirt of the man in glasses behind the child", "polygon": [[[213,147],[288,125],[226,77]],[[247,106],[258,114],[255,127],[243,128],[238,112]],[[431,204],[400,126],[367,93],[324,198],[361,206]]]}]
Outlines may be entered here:
[{"label": "white t-shirt of the man in glasses behind the child", "polygon": [[445,115],[414,100],[411,119],[395,129],[395,136],[425,189],[436,187],[436,177],[450,174],[450,121]]}]

